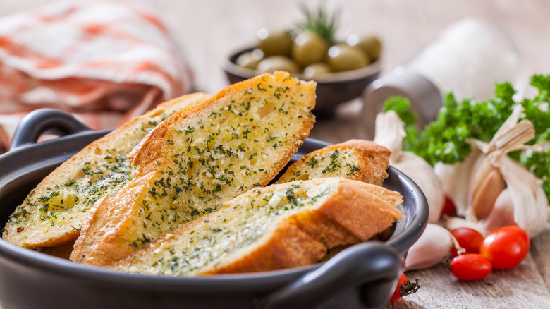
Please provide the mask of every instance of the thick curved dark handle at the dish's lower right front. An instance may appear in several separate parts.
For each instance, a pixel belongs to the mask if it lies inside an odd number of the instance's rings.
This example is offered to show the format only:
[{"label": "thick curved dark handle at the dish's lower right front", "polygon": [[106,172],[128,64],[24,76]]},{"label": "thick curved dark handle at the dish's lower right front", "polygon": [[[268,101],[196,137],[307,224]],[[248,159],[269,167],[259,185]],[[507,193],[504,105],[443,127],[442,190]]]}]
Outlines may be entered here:
[{"label": "thick curved dark handle at the dish's lower right front", "polygon": [[336,293],[353,288],[362,306],[384,308],[402,272],[403,260],[395,249],[379,241],[360,243],[271,293],[259,308],[314,308]]}]

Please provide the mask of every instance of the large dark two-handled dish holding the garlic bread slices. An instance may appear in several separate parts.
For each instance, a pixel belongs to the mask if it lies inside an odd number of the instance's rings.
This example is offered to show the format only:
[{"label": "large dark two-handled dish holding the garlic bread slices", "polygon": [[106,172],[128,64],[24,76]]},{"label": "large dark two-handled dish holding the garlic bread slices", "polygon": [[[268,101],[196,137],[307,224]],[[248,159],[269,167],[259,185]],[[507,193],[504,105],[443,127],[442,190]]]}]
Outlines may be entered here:
[{"label": "large dark two-handled dish holding the garlic bread slices", "polygon": [[[35,143],[49,129],[66,134]],[[32,112],[11,150],[0,156],[2,226],[16,205],[55,166],[106,132],[90,131],[63,112]],[[307,140],[297,156],[326,143]],[[427,202],[410,178],[389,169],[404,217],[386,243],[352,246],[309,267],[201,278],[152,277],[86,267],[0,239],[0,307],[26,308],[383,308],[403,258],[427,224]]]}]

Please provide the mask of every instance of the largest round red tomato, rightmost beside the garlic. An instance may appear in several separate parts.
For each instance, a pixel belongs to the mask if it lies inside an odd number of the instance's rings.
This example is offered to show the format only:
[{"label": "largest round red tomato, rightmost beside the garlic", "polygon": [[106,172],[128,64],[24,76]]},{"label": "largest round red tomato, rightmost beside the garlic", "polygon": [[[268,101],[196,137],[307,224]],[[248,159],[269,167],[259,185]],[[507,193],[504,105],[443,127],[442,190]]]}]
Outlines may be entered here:
[{"label": "largest round red tomato, rightmost beside the garlic", "polygon": [[508,269],[520,264],[530,248],[527,233],[519,226],[503,226],[487,235],[479,253],[487,257],[496,269]]}]

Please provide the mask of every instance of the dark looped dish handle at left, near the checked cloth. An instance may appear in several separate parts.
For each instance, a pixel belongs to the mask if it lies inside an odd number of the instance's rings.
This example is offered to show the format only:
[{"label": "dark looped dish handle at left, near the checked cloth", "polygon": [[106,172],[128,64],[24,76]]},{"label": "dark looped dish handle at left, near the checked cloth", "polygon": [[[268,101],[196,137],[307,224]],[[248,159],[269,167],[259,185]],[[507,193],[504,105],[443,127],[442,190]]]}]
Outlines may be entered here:
[{"label": "dark looped dish handle at left, near the checked cloth", "polygon": [[20,121],[11,139],[10,150],[35,144],[45,133],[64,136],[90,130],[92,129],[65,111],[47,108],[36,109]]}]

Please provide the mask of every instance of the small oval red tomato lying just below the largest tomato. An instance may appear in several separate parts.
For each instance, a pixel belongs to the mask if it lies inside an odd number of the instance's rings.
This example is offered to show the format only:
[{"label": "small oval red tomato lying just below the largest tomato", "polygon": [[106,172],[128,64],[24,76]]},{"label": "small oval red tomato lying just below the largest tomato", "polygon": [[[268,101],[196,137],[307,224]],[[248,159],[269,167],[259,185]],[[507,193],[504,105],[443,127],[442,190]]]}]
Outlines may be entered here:
[{"label": "small oval red tomato lying just below the largest tomato", "polygon": [[479,253],[466,253],[451,260],[451,274],[463,281],[483,279],[492,270],[491,262]]}]

